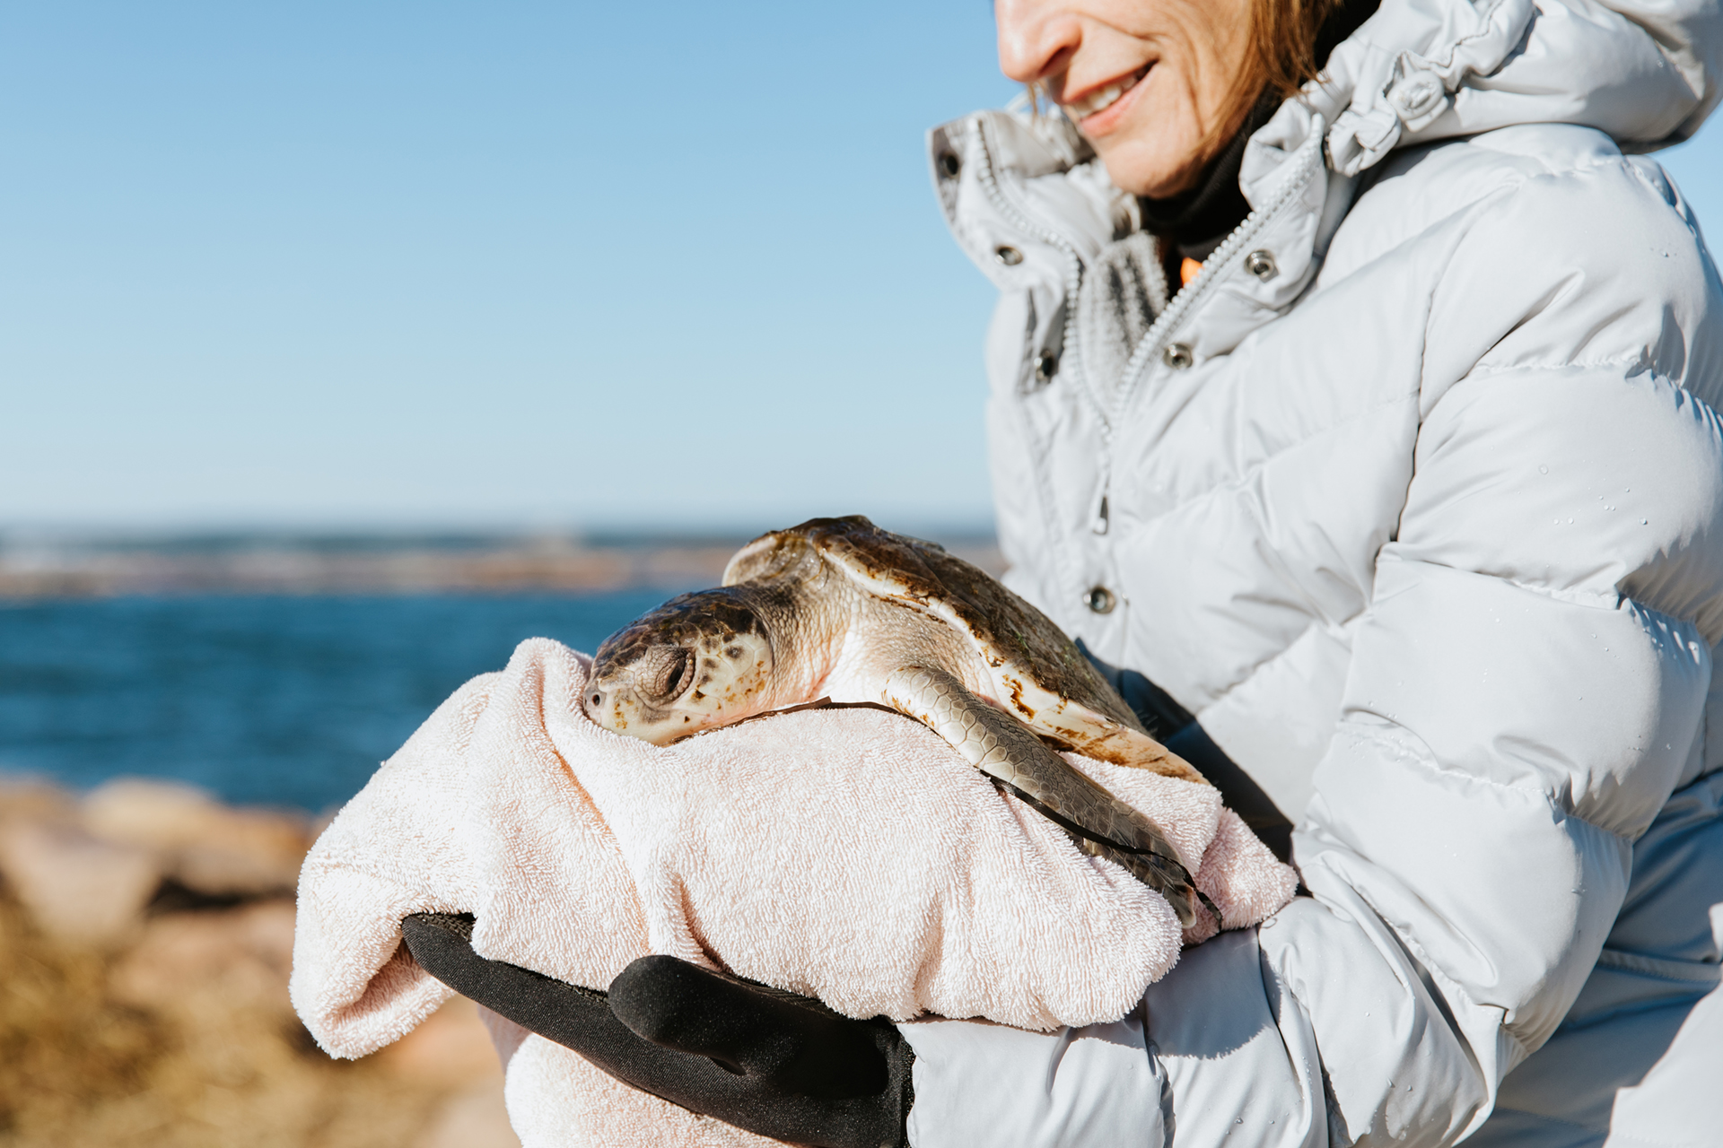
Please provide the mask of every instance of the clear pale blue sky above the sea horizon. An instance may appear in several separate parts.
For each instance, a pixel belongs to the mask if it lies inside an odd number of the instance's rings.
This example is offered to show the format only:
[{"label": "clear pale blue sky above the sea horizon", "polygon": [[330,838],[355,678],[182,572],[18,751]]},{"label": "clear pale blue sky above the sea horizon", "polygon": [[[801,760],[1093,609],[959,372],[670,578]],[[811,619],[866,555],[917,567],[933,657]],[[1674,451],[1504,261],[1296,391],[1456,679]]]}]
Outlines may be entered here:
[{"label": "clear pale blue sky above the sea horizon", "polygon": [[1011,93],[986,0],[5,5],[0,527],[984,522]]}]

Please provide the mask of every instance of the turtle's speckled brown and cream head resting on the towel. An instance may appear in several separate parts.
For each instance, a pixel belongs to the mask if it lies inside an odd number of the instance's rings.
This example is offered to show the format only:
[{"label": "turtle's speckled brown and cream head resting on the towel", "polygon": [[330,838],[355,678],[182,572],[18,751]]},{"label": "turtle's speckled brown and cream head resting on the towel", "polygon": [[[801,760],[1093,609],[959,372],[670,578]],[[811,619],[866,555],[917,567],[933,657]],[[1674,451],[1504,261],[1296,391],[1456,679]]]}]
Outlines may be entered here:
[{"label": "turtle's speckled brown and cream head resting on the towel", "polygon": [[581,707],[655,745],[772,707],[772,639],[741,587],[674,597],[605,639]]}]

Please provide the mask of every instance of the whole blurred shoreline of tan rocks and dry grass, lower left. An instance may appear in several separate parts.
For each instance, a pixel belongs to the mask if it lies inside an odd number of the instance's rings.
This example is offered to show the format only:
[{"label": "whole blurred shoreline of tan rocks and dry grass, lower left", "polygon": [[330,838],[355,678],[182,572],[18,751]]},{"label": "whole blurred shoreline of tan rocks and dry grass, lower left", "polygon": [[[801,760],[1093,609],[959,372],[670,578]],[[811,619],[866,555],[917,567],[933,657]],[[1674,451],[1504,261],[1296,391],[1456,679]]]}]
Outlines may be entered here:
[{"label": "whole blurred shoreline of tan rocks and dry grass, lower left", "polygon": [[317,828],[169,781],[0,780],[0,1146],[519,1143],[469,1002],[360,1062],[295,1017]]}]

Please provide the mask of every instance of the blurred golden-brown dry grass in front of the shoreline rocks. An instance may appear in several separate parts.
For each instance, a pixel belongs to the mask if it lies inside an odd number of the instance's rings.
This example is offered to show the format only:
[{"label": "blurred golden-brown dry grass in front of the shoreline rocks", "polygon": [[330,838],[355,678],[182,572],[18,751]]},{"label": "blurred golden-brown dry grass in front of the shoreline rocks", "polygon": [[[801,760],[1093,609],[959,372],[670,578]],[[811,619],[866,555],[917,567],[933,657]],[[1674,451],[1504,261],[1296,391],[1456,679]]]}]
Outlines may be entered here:
[{"label": "blurred golden-brown dry grass in front of the shoreline rocks", "polygon": [[121,954],[43,936],[0,892],[0,1146],[383,1148],[424,1143],[448,1088],[334,1062],[219,979],[128,1005]]}]

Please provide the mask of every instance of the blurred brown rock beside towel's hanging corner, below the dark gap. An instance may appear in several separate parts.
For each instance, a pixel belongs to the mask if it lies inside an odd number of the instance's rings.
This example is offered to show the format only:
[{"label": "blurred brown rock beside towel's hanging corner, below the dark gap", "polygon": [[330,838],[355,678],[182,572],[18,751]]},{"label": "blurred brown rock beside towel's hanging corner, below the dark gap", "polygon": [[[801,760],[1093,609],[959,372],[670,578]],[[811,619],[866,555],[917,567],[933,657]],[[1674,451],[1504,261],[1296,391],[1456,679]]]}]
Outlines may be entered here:
[{"label": "blurred brown rock beside towel's hanging corner, below the dark gap", "polygon": [[291,1014],[293,905],[269,900],[226,912],[176,912],[150,921],[109,978],[114,998],[174,1010],[217,997],[229,1009]]}]

